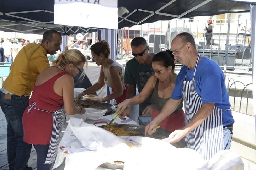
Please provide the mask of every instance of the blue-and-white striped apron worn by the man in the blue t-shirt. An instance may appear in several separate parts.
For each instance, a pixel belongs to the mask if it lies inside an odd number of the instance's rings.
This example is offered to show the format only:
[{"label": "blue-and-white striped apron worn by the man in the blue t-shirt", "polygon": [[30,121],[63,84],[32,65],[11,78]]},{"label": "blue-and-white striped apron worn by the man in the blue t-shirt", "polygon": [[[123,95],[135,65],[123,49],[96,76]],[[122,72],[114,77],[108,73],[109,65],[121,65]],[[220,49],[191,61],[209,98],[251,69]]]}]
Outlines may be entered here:
[{"label": "blue-and-white striped apron worn by the man in the blue t-shirt", "polygon": [[[196,82],[194,80],[199,58],[200,55],[198,54],[193,79],[186,81],[186,71],[185,79],[183,81],[182,89],[185,104],[185,126],[202,107],[202,99],[195,90]],[[202,124],[188,133],[185,136],[185,140],[188,148],[196,150],[206,160],[211,159],[217,152],[223,150],[222,110],[214,106],[213,112],[202,122]]]}]

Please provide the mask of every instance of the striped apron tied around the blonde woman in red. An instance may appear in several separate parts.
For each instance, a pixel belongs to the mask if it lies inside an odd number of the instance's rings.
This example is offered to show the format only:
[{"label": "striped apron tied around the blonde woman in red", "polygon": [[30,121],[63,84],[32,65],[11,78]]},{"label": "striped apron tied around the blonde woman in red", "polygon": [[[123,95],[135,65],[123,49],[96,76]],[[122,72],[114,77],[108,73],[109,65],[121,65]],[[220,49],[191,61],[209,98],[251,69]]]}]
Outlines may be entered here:
[{"label": "striped apron tied around the blonde woman in red", "polygon": [[51,112],[51,111],[36,108],[35,105],[36,105],[36,102],[34,102],[32,105],[29,105],[30,108],[28,109],[27,113],[29,113],[31,111],[31,109],[33,108],[36,110],[51,113],[53,116],[53,130],[52,130],[52,135],[51,135],[51,139],[50,139],[50,145],[49,145],[46,161],[44,162],[44,164],[51,164],[54,162],[55,157],[57,155],[58,145],[59,145],[59,141],[60,141],[59,134],[62,130],[62,125],[64,123],[65,110],[63,108],[61,108],[59,110]]}]

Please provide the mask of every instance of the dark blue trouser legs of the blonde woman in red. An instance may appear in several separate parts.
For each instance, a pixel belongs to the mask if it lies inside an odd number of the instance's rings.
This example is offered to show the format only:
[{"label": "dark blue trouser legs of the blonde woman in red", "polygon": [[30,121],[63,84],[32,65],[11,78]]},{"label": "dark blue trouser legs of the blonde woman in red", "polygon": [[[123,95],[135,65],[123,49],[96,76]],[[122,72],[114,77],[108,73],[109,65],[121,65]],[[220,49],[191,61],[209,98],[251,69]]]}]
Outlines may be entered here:
[{"label": "dark blue trouser legs of the blonde woman in red", "polygon": [[34,148],[36,149],[37,153],[37,170],[49,170],[52,164],[44,164],[48,150],[49,144],[34,144]]}]

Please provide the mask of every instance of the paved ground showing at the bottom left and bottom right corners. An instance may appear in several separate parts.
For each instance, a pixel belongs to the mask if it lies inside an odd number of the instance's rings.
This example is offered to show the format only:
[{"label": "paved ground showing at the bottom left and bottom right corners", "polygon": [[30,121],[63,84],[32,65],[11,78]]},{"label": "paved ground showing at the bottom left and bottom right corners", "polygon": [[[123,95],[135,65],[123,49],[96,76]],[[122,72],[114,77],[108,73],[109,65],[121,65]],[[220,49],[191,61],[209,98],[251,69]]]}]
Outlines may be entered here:
[{"label": "paved ground showing at the bottom left and bottom right corners", "polygon": [[[9,170],[7,162],[7,150],[6,150],[6,119],[4,113],[0,109],[0,170]],[[31,166],[36,170],[36,150],[32,146],[30,159],[28,161],[28,166]],[[245,164],[245,170],[256,170],[256,164],[243,159]],[[65,164],[63,163],[55,170],[64,170]]]}]

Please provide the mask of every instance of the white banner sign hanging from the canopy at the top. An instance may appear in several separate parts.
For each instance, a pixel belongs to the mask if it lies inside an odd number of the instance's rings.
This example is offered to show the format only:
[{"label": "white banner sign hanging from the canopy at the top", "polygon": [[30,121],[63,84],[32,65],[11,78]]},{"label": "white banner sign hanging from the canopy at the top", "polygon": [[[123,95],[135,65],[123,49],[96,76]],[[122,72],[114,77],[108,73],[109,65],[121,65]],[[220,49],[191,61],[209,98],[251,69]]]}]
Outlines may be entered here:
[{"label": "white banner sign hanging from the canopy at the top", "polygon": [[118,29],[117,0],[55,0],[54,24]]}]

